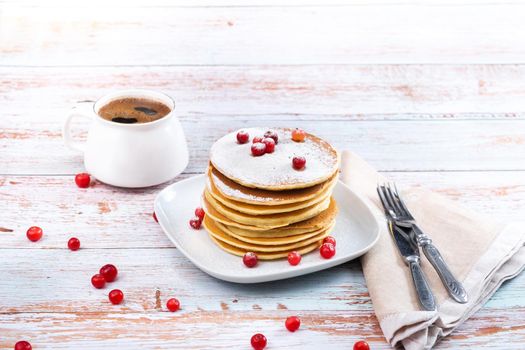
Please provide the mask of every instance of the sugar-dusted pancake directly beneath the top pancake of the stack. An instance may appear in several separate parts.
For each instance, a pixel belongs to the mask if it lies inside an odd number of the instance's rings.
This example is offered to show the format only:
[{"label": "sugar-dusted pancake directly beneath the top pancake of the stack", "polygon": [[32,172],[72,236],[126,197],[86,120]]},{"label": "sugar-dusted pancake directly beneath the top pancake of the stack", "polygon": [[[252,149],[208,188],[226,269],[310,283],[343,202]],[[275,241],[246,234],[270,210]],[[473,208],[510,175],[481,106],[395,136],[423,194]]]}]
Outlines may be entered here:
[{"label": "sugar-dusted pancake directly beneath the top pancake of the stack", "polygon": [[282,205],[314,199],[319,196],[320,193],[326,191],[328,187],[333,187],[338,177],[336,173],[327,181],[307,188],[268,191],[242,186],[221,174],[211,164],[208,167],[207,175],[211,183],[215,186],[217,193],[220,193],[223,197],[237,202],[257,205]]}]

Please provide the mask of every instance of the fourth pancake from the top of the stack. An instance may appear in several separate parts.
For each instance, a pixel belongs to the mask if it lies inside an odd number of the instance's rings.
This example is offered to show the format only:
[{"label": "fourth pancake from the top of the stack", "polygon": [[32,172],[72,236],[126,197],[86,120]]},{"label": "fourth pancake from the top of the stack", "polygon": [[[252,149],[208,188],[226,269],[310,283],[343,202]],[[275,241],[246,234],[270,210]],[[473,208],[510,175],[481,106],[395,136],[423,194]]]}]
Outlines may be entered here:
[{"label": "fourth pancake from the top of the stack", "polygon": [[303,221],[314,217],[323,210],[327,209],[330,205],[330,197],[326,198],[320,203],[316,203],[310,207],[295,210],[288,213],[278,213],[270,215],[258,215],[252,216],[232,210],[223,204],[219,203],[213,198],[213,196],[205,189],[204,197],[208,202],[207,206],[213,206],[218,212],[226,216],[232,221],[244,224],[244,225],[254,225],[258,227],[264,227],[267,229],[287,226],[289,224]]}]

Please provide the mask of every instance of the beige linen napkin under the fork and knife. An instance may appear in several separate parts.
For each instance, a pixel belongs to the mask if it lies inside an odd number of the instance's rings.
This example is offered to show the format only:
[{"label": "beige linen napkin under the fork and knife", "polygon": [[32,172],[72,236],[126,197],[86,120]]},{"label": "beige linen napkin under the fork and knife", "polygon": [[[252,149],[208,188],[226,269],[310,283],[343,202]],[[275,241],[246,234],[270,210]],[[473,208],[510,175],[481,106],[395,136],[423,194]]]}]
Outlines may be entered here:
[{"label": "beige linen napkin under the fork and knife", "polygon": [[385,178],[347,151],[342,155],[341,173],[342,181],[368,202],[380,222],[379,241],[361,262],[375,313],[392,346],[432,348],[481,308],[501,283],[523,270],[523,225],[490,220],[421,188],[402,190],[419,226],[432,238],[469,295],[467,304],[454,302],[421,254],[422,268],[438,305],[438,311],[421,311],[410,272],[387,231],[377,196],[376,185]]}]

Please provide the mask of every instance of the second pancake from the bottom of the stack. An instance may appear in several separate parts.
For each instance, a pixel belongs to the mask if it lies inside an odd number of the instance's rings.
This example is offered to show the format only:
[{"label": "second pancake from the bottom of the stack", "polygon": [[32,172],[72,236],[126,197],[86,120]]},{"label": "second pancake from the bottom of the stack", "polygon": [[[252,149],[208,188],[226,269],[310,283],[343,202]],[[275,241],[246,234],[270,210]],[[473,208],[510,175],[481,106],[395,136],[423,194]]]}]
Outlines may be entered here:
[{"label": "second pancake from the bottom of the stack", "polygon": [[255,243],[248,243],[241,241],[233,236],[228,235],[222,231],[213,220],[209,218],[204,218],[203,222],[204,227],[208,231],[210,236],[213,236],[216,240],[220,240],[230,246],[236,247],[238,249],[243,249],[245,252],[263,252],[263,253],[274,253],[274,252],[291,252],[293,250],[300,249],[302,247],[308,246],[310,244],[317,243],[321,241],[324,237],[328,236],[330,233],[329,230],[321,231],[319,234],[301,240],[299,242],[293,242],[288,244],[281,245],[260,245]]}]

